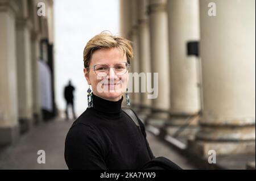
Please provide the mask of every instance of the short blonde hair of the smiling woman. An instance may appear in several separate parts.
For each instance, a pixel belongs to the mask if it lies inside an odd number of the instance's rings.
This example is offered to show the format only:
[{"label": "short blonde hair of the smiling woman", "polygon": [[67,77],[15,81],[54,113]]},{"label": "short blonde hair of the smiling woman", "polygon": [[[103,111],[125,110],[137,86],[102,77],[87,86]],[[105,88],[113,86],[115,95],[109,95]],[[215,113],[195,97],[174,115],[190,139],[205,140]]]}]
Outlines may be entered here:
[{"label": "short blonde hair of the smiling woman", "polygon": [[114,36],[110,32],[101,32],[88,41],[84,48],[84,68],[88,68],[92,54],[98,49],[119,48],[123,55],[126,55],[127,62],[130,64],[133,58],[133,48],[131,41],[122,36]]}]

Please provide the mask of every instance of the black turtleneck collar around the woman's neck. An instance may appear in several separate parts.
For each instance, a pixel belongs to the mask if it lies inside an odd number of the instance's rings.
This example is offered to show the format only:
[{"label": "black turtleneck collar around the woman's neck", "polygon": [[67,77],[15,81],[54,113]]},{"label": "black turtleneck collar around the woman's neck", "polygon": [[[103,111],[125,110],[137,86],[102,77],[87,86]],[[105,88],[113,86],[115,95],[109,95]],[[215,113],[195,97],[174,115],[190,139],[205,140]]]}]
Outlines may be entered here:
[{"label": "black turtleneck collar around the woman's neck", "polygon": [[123,96],[118,101],[110,101],[103,98],[100,98],[97,95],[93,95],[93,108],[97,111],[105,113],[120,113],[122,111],[122,100]]}]

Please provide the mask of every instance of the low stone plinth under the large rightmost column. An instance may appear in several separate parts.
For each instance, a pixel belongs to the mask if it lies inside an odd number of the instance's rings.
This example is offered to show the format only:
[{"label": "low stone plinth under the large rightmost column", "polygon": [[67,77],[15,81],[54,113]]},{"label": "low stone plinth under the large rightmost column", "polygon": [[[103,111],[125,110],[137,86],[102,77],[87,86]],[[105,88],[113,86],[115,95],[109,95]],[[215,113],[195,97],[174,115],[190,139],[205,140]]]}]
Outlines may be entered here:
[{"label": "low stone plinth under the large rightmost column", "polygon": [[188,151],[200,157],[208,158],[209,150],[216,151],[218,155],[255,154],[255,141],[201,141],[188,140]]}]

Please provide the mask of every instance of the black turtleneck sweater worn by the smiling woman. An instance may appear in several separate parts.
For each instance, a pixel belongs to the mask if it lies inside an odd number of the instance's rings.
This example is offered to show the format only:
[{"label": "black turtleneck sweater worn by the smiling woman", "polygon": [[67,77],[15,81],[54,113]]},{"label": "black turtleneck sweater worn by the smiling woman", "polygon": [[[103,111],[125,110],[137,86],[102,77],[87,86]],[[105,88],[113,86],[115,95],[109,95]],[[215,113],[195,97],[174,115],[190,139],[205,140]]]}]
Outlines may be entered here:
[{"label": "black turtleneck sweater worn by the smiling woman", "polygon": [[141,131],[117,102],[93,95],[87,108],[73,123],[65,140],[69,169],[141,169],[154,158],[143,123]]}]

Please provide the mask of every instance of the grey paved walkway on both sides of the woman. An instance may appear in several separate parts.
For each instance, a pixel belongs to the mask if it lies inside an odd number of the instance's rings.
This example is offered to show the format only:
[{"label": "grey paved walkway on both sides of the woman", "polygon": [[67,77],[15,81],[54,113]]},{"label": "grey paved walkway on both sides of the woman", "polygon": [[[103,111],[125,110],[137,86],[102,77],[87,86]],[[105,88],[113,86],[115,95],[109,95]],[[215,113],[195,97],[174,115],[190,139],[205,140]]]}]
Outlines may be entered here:
[{"label": "grey paved walkway on both sides of the woman", "polygon": [[[0,153],[0,169],[68,169],[64,160],[64,142],[72,121],[56,119],[42,123]],[[147,133],[147,140],[155,156],[164,156],[183,169],[196,169],[175,150]],[[38,150],[46,152],[46,163],[39,164]]]}]

